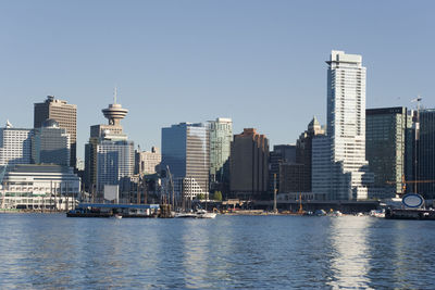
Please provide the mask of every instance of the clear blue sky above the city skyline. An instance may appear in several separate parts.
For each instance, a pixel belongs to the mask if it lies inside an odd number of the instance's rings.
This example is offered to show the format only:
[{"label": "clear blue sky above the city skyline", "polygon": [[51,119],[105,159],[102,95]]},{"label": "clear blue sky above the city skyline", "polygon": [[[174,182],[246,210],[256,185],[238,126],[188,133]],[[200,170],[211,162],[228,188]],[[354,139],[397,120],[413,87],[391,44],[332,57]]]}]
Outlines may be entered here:
[{"label": "clear blue sky above the city skyline", "polygon": [[293,143],[326,112],[332,49],[363,56],[368,108],[435,108],[435,1],[2,1],[0,122],[78,106],[78,156],[113,87],[142,149],[164,126],[232,117]]}]

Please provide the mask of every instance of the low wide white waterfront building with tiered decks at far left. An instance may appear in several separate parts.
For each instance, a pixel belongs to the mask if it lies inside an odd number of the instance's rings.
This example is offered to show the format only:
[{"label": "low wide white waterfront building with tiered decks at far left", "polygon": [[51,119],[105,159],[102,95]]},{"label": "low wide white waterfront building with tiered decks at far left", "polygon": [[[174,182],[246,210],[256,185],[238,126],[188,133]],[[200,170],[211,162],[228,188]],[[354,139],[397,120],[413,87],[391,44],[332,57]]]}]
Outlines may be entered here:
[{"label": "low wide white waterfront building with tiered decks at far left", "polygon": [[80,194],[72,167],[13,165],[0,173],[1,209],[71,210]]}]

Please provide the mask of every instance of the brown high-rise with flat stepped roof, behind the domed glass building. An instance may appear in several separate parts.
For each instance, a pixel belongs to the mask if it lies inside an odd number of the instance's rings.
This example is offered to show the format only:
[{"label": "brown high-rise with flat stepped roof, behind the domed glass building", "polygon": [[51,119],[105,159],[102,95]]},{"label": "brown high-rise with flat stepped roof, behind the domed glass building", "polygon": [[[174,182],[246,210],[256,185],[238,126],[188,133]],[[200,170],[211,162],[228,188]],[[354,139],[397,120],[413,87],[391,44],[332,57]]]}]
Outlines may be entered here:
[{"label": "brown high-rise with flat stepped roof, behind the domed glass building", "polygon": [[77,105],[48,96],[42,103],[35,103],[34,128],[40,128],[42,123],[52,118],[70,134],[71,154],[70,166],[76,167],[77,152]]}]

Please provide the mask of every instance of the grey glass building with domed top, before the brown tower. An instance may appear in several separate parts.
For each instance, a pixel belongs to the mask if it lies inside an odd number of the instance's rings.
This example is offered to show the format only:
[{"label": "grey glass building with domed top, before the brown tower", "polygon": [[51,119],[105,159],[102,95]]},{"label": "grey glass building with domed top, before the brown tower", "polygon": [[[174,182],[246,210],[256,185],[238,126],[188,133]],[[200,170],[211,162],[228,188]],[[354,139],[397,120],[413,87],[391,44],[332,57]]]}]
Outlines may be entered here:
[{"label": "grey glass building with domed top, before the brown tower", "polygon": [[70,134],[52,118],[35,128],[32,138],[32,159],[35,164],[57,164],[70,166]]}]

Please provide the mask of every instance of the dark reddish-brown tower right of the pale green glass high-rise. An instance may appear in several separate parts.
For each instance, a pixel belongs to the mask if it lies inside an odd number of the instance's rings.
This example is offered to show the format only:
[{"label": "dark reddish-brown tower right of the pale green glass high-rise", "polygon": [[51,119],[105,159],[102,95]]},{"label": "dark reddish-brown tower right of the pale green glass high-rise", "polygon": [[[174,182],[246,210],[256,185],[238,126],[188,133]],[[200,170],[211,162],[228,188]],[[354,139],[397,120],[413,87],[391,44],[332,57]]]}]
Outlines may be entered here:
[{"label": "dark reddish-brown tower right of the pale green glass high-rise", "polygon": [[266,199],[269,179],[269,140],[253,128],[234,135],[229,157],[233,197],[256,200]]}]

